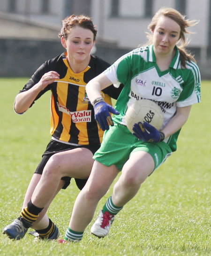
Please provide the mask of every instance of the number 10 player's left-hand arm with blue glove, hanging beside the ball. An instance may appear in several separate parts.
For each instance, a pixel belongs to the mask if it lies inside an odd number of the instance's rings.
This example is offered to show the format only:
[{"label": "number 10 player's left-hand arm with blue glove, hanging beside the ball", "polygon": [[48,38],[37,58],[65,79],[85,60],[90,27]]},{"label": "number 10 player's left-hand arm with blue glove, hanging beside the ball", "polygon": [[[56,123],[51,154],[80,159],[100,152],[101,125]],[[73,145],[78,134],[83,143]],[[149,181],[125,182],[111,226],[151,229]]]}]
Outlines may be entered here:
[{"label": "number 10 player's left-hand arm with blue glove, hanging beside the ball", "polygon": [[103,131],[109,129],[109,124],[113,126],[110,113],[119,115],[119,112],[108,105],[101,96],[101,90],[109,85],[112,85],[112,82],[103,73],[90,80],[86,85],[87,96],[94,107],[95,119]]}]

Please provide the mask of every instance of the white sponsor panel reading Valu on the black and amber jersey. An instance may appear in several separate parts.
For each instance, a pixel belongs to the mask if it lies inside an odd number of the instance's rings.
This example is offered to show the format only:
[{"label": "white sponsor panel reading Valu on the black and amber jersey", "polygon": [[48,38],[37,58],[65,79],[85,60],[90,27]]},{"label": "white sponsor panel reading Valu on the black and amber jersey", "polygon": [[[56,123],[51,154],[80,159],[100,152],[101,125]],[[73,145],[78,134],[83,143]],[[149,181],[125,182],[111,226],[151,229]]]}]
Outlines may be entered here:
[{"label": "white sponsor panel reading Valu on the black and amber jersey", "polygon": [[91,122],[91,110],[81,110],[81,111],[71,112],[67,107],[60,105],[58,102],[57,102],[57,106],[61,112],[71,116],[73,123]]}]

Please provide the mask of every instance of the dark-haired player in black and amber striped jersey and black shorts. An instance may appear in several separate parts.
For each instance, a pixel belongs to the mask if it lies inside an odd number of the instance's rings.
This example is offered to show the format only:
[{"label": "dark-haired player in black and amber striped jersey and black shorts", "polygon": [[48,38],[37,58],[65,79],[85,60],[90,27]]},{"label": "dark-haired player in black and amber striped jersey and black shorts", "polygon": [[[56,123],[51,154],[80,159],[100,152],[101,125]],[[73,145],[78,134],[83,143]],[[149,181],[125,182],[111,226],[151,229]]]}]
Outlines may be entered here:
[{"label": "dark-haired player in black and amber striped jersey and black shorts", "polygon": [[[46,210],[71,178],[75,178],[78,188],[82,189],[90,175],[92,156],[100,146],[103,131],[95,121],[85,85],[110,66],[90,55],[96,34],[97,29],[88,16],[72,15],[64,19],[59,37],[66,51],[41,65],[15,98],[15,112],[23,114],[51,90],[52,139],[31,178],[21,216],[4,228],[9,238],[23,238],[29,227],[34,228],[40,238],[58,238],[59,230],[45,215]],[[120,91],[121,88],[115,89],[112,85],[100,95],[111,104],[111,97],[117,99]],[[42,175],[44,168],[45,176]],[[47,181],[54,183],[48,186]],[[33,192],[38,202],[31,200]]]}]

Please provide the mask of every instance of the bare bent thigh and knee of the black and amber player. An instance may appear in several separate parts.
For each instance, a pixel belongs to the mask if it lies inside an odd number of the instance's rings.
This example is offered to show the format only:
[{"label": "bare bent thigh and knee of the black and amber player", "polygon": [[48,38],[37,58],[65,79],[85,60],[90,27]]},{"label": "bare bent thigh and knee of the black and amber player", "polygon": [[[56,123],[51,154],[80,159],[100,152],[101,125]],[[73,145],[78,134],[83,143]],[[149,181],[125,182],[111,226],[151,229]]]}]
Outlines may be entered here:
[{"label": "bare bent thigh and knee of the black and amber player", "polygon": [[56,171],[61,177],[88,178],[94,162],[92,156],[92,152],[84,147],[62,151],[50,157],[44,171]]}]

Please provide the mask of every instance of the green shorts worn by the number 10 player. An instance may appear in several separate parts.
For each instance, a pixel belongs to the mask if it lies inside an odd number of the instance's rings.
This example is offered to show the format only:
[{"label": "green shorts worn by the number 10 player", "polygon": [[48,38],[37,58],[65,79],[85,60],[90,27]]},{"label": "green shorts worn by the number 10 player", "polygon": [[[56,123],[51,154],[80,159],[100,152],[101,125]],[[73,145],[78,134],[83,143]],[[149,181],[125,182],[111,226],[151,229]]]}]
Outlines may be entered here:
[{"label": "green shorts worn by the number 10 player", "polygon": [[93,158],[105,166],[114,164],[121,171],[130,154],[136,151],[146,151],[152,156],[154,170],[172,154],[166,142],[144,142],[137,139],[125,125],[114,123],[114,126],[105,131],[102,144]]}]

